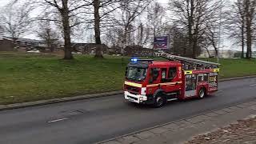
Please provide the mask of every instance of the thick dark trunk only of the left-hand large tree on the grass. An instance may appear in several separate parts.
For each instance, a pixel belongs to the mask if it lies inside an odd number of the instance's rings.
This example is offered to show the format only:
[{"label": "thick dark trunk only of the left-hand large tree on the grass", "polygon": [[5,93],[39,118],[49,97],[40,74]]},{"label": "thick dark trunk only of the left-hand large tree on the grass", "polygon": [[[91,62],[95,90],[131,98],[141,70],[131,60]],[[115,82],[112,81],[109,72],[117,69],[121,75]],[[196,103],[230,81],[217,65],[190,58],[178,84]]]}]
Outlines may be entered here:
[{"label": "thick dark trunk only of the left-hand large tree on the grass", "polygon": [[70,39],[70,17],[69,17],[69,9],[67,0],[63,0],[63,10],[62,10],[62,25],[63,25],[63,32],[64,32],[64,59],[70,60],[74,59],[72,55],[71,49],[71,39]]}]

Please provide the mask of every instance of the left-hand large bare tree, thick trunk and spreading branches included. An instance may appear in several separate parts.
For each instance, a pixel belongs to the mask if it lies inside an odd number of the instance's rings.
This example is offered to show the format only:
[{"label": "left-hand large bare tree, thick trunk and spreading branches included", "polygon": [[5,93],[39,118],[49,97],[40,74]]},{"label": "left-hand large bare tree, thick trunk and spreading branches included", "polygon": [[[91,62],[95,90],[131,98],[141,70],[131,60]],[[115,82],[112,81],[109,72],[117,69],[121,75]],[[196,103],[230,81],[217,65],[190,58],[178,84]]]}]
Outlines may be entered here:
[{"label": "left-hand large bare tree, thick trunk and spreading branches included", "polygon": [[[15,0],[15,2],[17,1]],[[38,15],[37,20],[52,21],[61,28],[64,38],[64,59],[73,59],[71,34],[75,26],[86,22],[86,18],[80,18],[80,16],[82,8],[88,6],[88,3],[81,0],[30,0],[27,2],[42,10],[42,14]]]}]

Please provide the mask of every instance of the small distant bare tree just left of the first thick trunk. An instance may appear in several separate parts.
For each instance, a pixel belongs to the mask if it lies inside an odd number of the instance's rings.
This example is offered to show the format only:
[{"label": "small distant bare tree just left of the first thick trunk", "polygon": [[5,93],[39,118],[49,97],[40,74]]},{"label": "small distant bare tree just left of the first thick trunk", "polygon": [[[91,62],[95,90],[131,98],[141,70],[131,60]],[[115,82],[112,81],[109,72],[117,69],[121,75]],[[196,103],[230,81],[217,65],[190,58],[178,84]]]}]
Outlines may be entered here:
[{"label": "small distant bare tree just left of the first thick trunk", "polygon": [[50,49],[51,52],[54,52],[54,46],[57,46],[59,34],[56,30],[54,30],[50,24],[50,21],[42,21],[38,26],[38,37],[41,38],[47,44],[47,48]]}]

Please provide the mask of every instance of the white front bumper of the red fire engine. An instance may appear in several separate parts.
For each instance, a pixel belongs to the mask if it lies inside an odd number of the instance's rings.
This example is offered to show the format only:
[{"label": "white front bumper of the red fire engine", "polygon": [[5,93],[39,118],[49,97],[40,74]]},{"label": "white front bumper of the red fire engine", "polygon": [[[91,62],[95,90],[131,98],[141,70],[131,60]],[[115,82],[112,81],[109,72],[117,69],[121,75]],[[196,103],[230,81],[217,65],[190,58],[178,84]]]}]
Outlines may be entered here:
[{"label": "white front bumper of the red fire engine", "polygon": [[145,103],[145,104],[150,104],[151,98],[146,97],[145,95],[141,94],[131,94],[129,91],[125,91],[125,99],[130,102],[135,102],[135,103]]}]

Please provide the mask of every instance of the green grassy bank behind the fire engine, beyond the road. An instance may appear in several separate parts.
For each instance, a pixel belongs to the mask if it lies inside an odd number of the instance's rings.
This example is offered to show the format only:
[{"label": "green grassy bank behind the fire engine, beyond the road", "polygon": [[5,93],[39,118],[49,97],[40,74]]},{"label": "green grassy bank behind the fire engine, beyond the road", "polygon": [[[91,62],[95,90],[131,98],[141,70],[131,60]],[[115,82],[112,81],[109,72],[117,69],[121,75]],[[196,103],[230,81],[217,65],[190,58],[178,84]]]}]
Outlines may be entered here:
[{"label": "green grassy bank behind the fire engine, beyond the road", "polygon": [[[121,90],[126,63],[120,57],[0,53],[0,104]],[[210,59],[214,61],[214,59]],[[256,60],[222,59],[221,78],[256,74]]]}]

